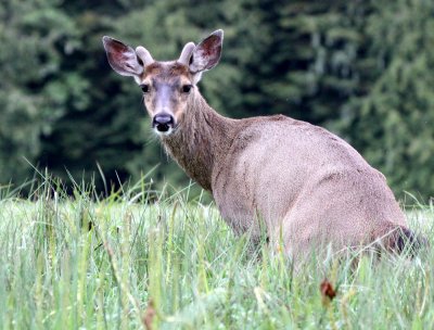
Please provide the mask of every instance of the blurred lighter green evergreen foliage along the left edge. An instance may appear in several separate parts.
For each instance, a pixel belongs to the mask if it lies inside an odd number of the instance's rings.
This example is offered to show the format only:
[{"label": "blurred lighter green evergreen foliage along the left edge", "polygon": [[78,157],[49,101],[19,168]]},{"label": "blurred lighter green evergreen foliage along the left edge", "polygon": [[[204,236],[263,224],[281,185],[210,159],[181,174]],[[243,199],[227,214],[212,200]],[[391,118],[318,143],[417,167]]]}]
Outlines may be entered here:
[{"label": "blurred lighter green evergreen foliage along the left edge", "polygon": [[[0,4],[0,183],[31,175],[40,137],[68,111],[65,99],[80,90],[62,88],[61,63],[76,46],[75,23],[58,1],[5,1]],[[68,77],[73,79],[74,77]]]}]

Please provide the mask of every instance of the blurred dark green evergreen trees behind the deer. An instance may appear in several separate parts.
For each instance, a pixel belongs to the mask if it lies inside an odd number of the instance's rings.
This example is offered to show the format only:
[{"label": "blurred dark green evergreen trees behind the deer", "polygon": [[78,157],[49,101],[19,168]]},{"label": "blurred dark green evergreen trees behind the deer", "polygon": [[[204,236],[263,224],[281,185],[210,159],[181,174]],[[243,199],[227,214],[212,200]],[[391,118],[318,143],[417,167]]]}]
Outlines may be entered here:
[{"label": "blurred dark green evergreen trees behind the deer", "polygon": [[[233,117],[283,113],[328,127],[397,194],[434,195],[434,2],[9,0],[0,3],[0,183],[29,165],[108,182],[153,172],[184,186],[159,149],[140,89],[108,66],[101,37],[174,59],[224,28],[201,90]],[[102,188],[102,182],[98,182]]]}]

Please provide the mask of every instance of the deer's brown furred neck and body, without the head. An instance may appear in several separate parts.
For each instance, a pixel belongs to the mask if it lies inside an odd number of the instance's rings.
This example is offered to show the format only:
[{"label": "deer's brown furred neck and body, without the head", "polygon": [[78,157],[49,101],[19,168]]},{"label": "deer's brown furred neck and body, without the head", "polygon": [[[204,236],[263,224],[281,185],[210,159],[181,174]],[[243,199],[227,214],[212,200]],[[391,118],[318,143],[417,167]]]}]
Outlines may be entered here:
[{"label": "deer's brown furred neck and body, without the head", "polygon": [[229,119],[195,91],[176,132],[162,141],[213,193],[237,232],[257,238],[259,216],[271,242],[282,230],[290,254],[324,241],[359,245],[407,228],[383,175],[345,141],[307,123],[281,115]]}]

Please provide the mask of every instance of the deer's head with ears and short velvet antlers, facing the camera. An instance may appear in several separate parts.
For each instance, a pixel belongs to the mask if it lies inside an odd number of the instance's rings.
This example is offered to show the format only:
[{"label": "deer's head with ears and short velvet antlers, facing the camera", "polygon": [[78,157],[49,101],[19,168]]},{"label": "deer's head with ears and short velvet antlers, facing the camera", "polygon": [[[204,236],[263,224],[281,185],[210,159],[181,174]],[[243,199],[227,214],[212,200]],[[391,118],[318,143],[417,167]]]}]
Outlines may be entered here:
[{"label": "deer's head with ears and short velvet antlers, facing the camera", "polygon": [[141,88],[153,129],[168,136],[181,126],[202,73],[217,65],[222,30],[213,33],[197,46],[187,43],[179,59],[171,62],[154,61],[143,47],[133,50],[110,37],[104,37],[103,43],[112,68],[123,76],[132,76]]}]

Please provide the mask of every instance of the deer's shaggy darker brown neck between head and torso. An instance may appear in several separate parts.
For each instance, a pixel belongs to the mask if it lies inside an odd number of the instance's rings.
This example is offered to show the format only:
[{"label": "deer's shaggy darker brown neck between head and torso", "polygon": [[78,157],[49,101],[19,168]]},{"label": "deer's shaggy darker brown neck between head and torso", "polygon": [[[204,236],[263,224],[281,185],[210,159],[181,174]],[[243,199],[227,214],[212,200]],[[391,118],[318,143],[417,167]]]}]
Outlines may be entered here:
[{"label": "deer's shaggy darker brown neck between head and torso", "polygon": [[228,153],[235,122],[219,115],[196,91],[176,131],[163,137],[162,142],[179,166],[212,192],[213,170]]}]

